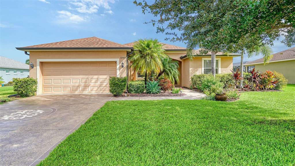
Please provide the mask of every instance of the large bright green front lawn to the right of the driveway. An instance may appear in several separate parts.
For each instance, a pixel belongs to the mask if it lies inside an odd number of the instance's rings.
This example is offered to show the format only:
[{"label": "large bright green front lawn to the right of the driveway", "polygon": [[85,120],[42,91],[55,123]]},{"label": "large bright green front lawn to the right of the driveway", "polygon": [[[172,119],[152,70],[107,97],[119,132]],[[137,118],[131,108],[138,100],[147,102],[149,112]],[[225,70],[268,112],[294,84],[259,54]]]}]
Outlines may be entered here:
[{"label": "large bright green front lawn to the right of the driveway", "polygon": [[295,164],[295,85],[235,102],[112,101],[40,165]]}]

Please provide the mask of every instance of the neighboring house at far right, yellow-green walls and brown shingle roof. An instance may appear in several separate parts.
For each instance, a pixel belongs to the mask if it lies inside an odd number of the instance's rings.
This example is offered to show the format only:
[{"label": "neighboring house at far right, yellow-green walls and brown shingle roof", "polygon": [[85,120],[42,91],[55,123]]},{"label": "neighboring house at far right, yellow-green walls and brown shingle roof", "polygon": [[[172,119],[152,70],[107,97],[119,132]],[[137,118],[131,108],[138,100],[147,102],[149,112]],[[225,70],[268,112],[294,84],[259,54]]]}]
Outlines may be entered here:
[{"label": "neighboring house at far right, yellow-green walls and brown shingle roof", "polygon": [[259,71],[271,70],[282,73],[288,79],[288,84],[295,84],[295,47],[273,54],[268,64],[264,65],[263,58],[260,58],[247,62],[245,66],[247,71],[255,68]]}]

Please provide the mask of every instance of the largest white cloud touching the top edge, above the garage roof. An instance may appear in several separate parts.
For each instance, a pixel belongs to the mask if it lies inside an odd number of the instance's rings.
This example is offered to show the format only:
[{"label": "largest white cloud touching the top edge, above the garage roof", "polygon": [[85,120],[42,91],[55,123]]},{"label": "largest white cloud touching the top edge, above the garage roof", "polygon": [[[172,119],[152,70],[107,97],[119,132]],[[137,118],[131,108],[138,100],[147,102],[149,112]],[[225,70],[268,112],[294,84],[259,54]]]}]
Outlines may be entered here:
[{"label": "largest white cloud touching the top edge, above the garage roof", "polygon": [[115,3],[115,0],[69,0],[69,1],[70,1],[70,4],[75,6],[73,8],[70,7],[71,9],[75,9],[77,10],[77,12],[87,13],[87,14],[98,12],[99,7],[103,7],[104,9],[111,9],[111,7],[109,6],[109,3],[112,3],[112,4]]}]

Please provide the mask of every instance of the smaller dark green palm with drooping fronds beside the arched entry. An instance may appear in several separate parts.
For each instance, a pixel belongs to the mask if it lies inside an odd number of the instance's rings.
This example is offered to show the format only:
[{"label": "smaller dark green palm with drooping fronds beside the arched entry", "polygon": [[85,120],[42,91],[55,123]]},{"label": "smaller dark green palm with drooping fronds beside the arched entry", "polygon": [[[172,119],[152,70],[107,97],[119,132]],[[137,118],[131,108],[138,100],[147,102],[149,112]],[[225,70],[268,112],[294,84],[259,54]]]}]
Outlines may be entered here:
[{"label": "smaller dark green palm with drooping fronds beside the arched entry", "polygon": [[162,65],[163,65],[163,70],[160,71],[158,76],[156,77],[157,79],[161,76],[164,76],[165,78],[168,78],[172,84],[176,81],[176,83],[179,83],[179,65],[178,61],[172,60],[169,57],[166,58],[161,58]]}]

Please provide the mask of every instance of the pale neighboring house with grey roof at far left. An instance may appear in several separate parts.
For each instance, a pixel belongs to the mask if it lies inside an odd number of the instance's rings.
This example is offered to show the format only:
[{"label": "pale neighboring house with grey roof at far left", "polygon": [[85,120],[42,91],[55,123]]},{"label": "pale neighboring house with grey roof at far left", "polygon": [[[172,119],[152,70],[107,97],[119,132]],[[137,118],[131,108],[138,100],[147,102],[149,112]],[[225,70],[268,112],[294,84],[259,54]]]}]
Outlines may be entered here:
[{"label": "pale neighboring house with grey roof at far left", "polygon": [[24,78],[29,75],[29,65],[0,56],[0,76],[5,83],[13,78]]}]

